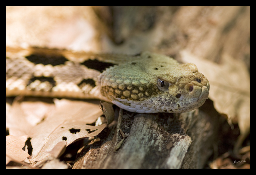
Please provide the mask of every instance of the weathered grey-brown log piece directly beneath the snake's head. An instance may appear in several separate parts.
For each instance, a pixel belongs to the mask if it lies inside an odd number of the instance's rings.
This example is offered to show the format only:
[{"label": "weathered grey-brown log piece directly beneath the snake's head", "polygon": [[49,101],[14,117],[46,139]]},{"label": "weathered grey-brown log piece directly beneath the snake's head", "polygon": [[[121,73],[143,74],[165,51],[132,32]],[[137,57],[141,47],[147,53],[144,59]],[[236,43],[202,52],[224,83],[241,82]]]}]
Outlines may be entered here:
[{"label": "weathered grey-brown log piece directly beneath the snake's head", "polygon": [[202,168],[216,136],[216,122],[211,120],[199,109],[182,114],[124,115],[120,129],[128,136],[119,149],[115,146],[123,136],[115,120],[108,131],[85,143],[88,146],[80,150],[73,168]]}]

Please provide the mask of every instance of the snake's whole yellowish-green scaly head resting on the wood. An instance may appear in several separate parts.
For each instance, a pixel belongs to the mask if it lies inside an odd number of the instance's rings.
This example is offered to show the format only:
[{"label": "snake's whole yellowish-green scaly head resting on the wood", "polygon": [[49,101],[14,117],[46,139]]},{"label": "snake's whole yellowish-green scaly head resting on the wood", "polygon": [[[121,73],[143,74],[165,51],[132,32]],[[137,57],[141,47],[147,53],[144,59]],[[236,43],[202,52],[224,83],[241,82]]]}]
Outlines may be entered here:
[{"label": "snake's whole yellowish-green scaly head resting on the wood", "polygon": [[102,94],[127,111],[181,113],[204,104],[210,84],[195,64],[145,52],[101,75]]}]

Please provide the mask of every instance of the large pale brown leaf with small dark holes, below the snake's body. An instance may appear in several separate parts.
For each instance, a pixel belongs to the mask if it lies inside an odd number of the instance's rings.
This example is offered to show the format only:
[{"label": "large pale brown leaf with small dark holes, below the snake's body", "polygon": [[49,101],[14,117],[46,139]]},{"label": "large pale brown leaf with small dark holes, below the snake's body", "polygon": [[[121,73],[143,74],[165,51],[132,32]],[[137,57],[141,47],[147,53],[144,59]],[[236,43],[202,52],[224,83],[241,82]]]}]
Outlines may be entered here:
[{"label": "large pale brown leaf with small dark holes, below the snake's body", "polygon": [[[89,125],[102,115],[99,101],[83,102],[61,99],[55,100],[55,104],[56,110],[52,115],[33,127],[28,134],[33,147],[30,162],[34,166],[47,159],[53,152],[55,156],[59,156],[64,148],[58,149],[58,146],[55,146],[62,141],[66,141],[65,144],[68,146],[82,138],[98,135],[108,124]],[[114,116],[107,120],[111,122],[113,119]]]}]

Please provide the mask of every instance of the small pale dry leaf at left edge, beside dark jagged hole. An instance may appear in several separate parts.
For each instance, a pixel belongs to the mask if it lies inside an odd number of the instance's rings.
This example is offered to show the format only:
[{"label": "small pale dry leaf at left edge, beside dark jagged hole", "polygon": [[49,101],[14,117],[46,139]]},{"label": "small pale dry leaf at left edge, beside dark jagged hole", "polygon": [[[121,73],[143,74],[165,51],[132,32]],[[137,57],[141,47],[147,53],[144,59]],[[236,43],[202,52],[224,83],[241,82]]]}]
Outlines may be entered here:
[{"label": "small pale dry leaf at left edge, beside dark jagged hole", "polygon": [[26,158],[30,158],[30,155],[22,150],[26,140],[26,135],[20,137],[13,135],[6,136],[6,164],[8,164],[11,160],[21,162]]}]

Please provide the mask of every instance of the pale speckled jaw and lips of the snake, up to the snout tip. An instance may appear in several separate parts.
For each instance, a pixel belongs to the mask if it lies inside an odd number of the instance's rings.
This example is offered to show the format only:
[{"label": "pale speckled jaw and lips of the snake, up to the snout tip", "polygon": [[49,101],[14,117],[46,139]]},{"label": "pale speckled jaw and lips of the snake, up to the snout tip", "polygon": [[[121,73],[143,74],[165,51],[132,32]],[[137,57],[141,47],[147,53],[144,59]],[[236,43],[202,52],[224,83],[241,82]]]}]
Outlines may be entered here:
[{"label": "pale speckled jaw and lips of the snake, up to the snout tip", "polygon": [[[206,85],[205,85],[206,84]],[[185,85],[186,86],[186,85]],[[185,87],[183,86],[183,87]],[[136,102],[134,100],[116,99],[112,103],[130,112],[136,113],[183,113],[199,108],[208,99],[210,84],[207,80],[204,85],[189,83],[188,87],[182,88],[176,93],[170,94],[164,91],[155,92],[148,99]],[[185,93],[184,92],[185,89]],[[176,94],[180,94],[177,97]]]}]

